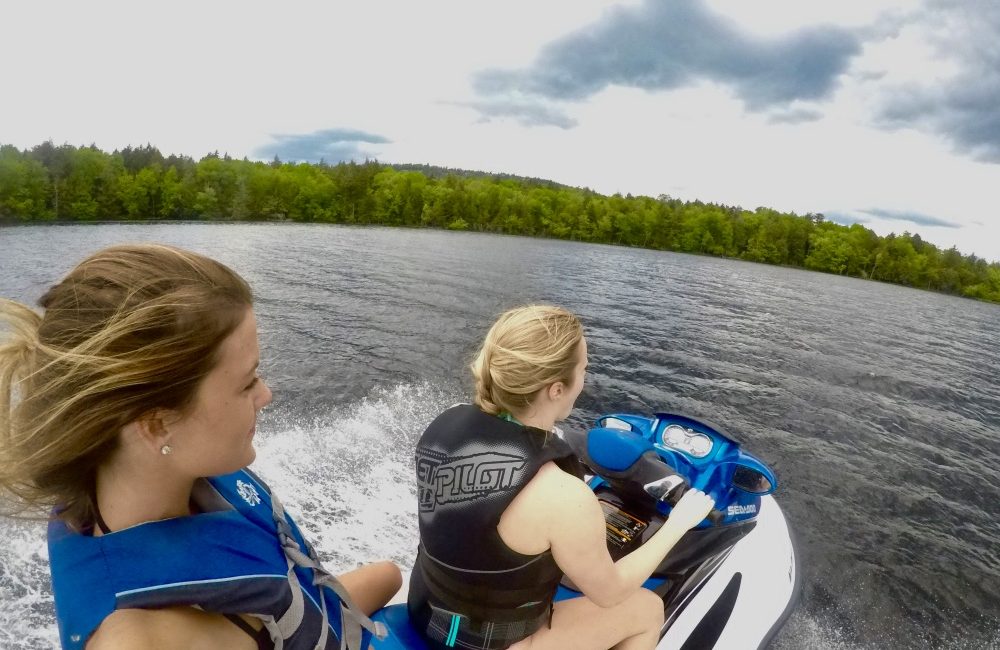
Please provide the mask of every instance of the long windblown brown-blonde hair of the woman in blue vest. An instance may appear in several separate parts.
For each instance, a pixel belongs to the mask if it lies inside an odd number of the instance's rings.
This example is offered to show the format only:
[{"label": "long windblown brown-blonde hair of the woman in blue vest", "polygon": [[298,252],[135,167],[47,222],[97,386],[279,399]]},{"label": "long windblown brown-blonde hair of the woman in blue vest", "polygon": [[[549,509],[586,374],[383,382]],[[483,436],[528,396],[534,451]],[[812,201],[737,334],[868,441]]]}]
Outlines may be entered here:
[{"label": "long windblown brown-blonde hair of the woman in blue vest", "polygon": [[71,525],[91,523],[97,469],[122,427],[156,409],[184,412],[252,302],[228,267],[157,244],[91,255],[42,296],[44,315],[0,299],[9,514],[55,506]]}]

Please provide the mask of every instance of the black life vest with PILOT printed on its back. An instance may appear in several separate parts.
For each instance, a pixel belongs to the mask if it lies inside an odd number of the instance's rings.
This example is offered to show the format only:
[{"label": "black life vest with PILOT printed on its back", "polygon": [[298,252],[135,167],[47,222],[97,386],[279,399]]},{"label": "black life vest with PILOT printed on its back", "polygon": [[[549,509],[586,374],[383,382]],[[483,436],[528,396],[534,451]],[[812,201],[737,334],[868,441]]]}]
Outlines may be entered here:
[{"label": "black life vest with PILOT printed on its back", "polygon": [[547,622],[562,571],[550,551],[511,550],[497,525],[549,461],[582,476],[557,435],[470,404],[448,409],[421,436],[420,548],[408,606],[432,646],[506,648]]}]

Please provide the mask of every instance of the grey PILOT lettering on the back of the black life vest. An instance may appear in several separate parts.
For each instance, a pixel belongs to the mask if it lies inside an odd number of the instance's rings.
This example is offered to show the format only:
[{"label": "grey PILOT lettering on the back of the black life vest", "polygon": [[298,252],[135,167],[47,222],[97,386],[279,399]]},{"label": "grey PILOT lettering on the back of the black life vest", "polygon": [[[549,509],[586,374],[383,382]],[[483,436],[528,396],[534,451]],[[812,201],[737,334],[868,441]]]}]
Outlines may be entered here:
[{"label": "grey PILOT lettering on the back of the black life vest", "polygon": [[469,501],[510,489],[524,458],[484,452],[449,457],[427,449],[417,450],[417,492],[421,512],[437,506]]}]

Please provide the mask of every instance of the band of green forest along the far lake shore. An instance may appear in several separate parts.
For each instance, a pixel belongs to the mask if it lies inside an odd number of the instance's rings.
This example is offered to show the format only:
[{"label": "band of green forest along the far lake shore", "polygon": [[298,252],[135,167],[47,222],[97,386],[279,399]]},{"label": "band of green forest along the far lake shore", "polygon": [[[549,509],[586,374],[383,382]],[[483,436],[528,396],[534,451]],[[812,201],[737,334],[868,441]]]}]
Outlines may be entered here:
[{"label": "band of green forest along the far lake shore", "polygon": [[919,235],[885,237],[822,214],[604,196],[511,175],[423,165],[286,163],[151,146],[0,146],[0,223],[297,221],[446,228],[731,257],[1000,303],[1000,263]]}]

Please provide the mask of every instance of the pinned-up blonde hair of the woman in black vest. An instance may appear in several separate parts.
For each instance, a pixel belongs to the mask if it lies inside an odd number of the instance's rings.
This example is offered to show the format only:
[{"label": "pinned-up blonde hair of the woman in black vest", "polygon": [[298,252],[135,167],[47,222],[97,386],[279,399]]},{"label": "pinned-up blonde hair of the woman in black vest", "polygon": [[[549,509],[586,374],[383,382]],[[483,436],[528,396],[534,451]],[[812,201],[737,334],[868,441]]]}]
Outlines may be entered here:
[{"label": "pinned-up blonde hair of the woman in black vest", "polygon": [[580,319],[561,307],[529,305],[504,312],[472,362],[476,405],[491,415],[519,411],[546,386],[571,384],[581,340]]}]

